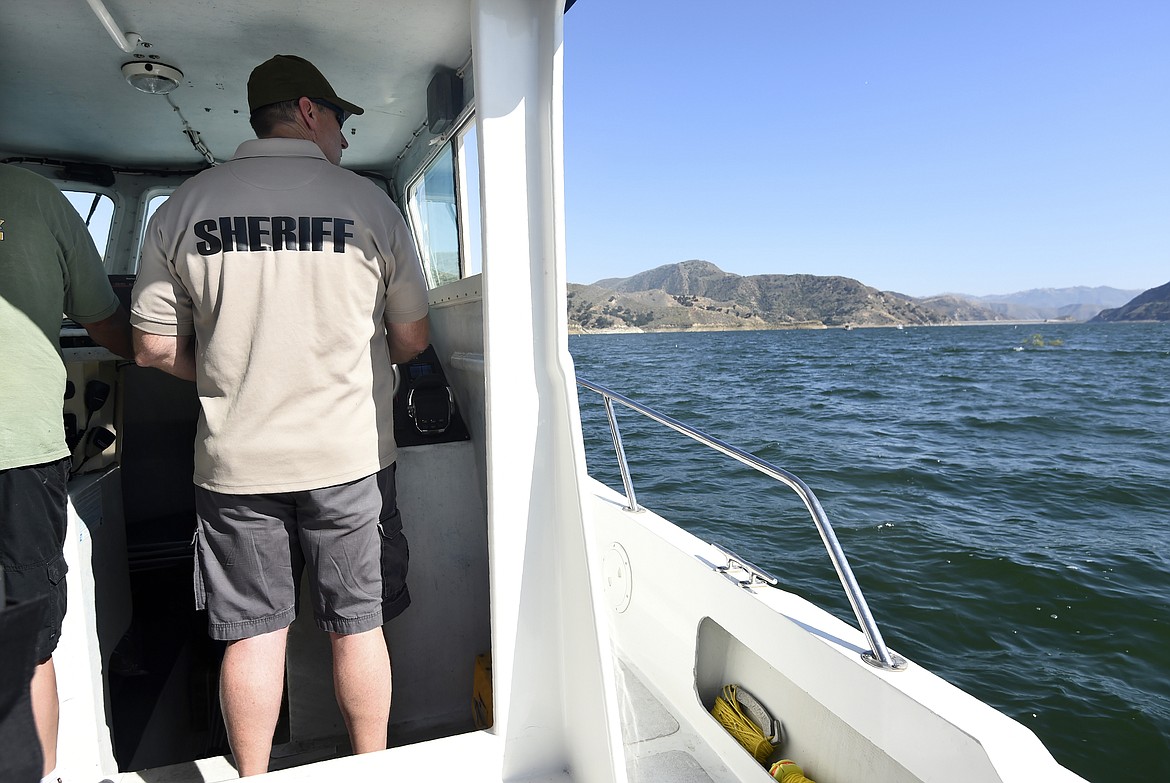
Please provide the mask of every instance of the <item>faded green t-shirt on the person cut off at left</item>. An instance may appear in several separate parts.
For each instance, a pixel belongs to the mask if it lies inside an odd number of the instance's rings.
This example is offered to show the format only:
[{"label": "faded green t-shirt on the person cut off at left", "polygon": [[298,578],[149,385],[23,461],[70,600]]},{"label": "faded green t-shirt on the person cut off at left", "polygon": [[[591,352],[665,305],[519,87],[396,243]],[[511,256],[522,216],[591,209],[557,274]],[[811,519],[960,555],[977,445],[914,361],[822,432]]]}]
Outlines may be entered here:
[{"label": "faded green t-shirt on the person cut off at left", "polygon": [[69,200],[43,177],[0,164],[0,471],[69,455],[61,316],[84,324],[117,309]]}]

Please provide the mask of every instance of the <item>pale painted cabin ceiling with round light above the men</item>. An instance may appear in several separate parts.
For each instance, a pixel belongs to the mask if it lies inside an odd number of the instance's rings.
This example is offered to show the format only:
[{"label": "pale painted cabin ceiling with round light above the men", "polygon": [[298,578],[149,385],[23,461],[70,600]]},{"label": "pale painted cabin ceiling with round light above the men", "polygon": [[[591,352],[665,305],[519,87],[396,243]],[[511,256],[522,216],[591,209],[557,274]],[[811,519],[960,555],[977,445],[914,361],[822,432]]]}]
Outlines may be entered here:
[{"label": "pale painted cabin ceiling with round light above the men", "polygon": [[314,62],[365,109],[346,123],[343,165],[388,169],[426,119],[439,67],[470,57],[469,0],[104,0],[123,51],[87,0],[5,2],[0,14],[0,150],[121,166],[199,167],[166,97],[123,78],[133,54],[183,71],[171,99],[218,160],[253,138],[248,74],[274,54]]}]

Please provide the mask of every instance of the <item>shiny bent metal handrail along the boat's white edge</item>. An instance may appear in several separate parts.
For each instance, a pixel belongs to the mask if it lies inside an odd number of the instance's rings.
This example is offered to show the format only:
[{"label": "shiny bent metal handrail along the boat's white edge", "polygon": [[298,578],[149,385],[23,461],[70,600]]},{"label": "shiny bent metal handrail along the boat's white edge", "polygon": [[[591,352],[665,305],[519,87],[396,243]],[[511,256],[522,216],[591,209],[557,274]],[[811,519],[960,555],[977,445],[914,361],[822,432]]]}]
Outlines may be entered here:
[{"label": "shiny bent metal handrail along the boat's white edge", "polygon": [[693,440],[697,440],[704,446],[709,446],[710,448],[714,448],[715,451],[725,454],[746,465],[748,467],[775,479],[776,481],[779,481],[796,492],[800,500],[804,501],[805,508],[808,509],[808,514],[812,515],[812,521],[817,526],[817,531],[820,533],[821,541],[825,542],[825,549],[828,551],[828,557],[833,562],[833,568],[837,570],[837,576],[841,581],[841,586],[845,588],[845,595],[849,599],[849,605],[853,606],[853,614],[858,618],[858,623],[861,625],[861,631],[866,634],[866,639],[869,641],[869,651],[862,653],[861,658],[865,659],[867,664],[879,668],[889,671],[902,671],[906,668],[906,660],[900,655],[893,654],[886,647],[886,641],[881,637],[881,631],[878,630],[878,623],[869,612],[869,605],[866,603],[865,596],[861,595],[861,586],[858,585],[858,581],[853,576],[853,569],[849,568],[849,562],[845,557],[845,550],[841,549],[841,544],[837,540],[837,534],[833,531],[833,526],[830,524],[828,517],[825,515],[825,509],[821,508],[820,501],[817,500],[817,495],[813,494],[808,485],[806,485],[799,476],[789,473],[783,468],[778,468],[775,465],[759,459],[755,454],[743,451],[742,448],[727,444],[718,438],[711,438],[710,435],[700,432],[698,430],[695,430],[677,419],[673,419],[665,413],[659,413],[654,408],[647,407],[641,403],[635,403],[624,394],[606,389],[599,384],[594,384],[591,380],[586,380],[580,376],[577,376],[577,383],[590,391],[597,392],[605,400],[605,412],[610,419],[610,434],[613,438],[613,447],[618,454],[618,467],[621,471],[621,482],[625,485],[626,499],[629,501],[629,506],[627,507],[628,510],[636,511],[639,507],[638,500],[634,495],[633,480],[629,476],[629,466],[626,461],[626,452],[621,445],[621,432],[618,430],[618,419],[613,412],[614,400],[649,419],[653,419],[654,421],[658,421],[659,424],[663,424],[672,430],[691,438]]}]

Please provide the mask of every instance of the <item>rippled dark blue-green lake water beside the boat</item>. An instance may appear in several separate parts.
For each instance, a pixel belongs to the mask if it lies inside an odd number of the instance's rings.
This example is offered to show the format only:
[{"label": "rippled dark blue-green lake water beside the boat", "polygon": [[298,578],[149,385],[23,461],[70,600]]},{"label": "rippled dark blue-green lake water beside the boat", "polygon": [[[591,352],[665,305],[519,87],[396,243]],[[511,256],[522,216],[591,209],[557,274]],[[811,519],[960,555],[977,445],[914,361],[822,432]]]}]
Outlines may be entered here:
[{"label": "rippled dark blue-green lake water beside the boat", "polygon": [[[803,478],[892,648],[1090,781],[1170,779],[1170,324],[569,348],[581,377]],[[620,490],[600,398],[580,393],[590,472]],[[618,411],[642,504],[854,623],[790,490]]]}]

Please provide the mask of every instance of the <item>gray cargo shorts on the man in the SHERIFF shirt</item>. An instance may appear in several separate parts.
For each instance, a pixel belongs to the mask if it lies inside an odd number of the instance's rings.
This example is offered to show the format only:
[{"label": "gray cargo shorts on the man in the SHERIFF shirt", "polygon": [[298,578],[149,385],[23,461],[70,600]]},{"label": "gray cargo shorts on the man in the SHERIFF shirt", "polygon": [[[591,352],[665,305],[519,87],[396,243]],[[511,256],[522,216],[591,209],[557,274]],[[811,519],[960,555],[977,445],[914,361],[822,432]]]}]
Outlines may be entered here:
[{"label": "gray cargo shorts on the man in the SHERIFF shirt", "polygon": [[301,573],[317,626],[363,633],[411,603],[394,466],[357,481],[266,495],[195,487],[195,607],[213,639],[288,626]]}]

